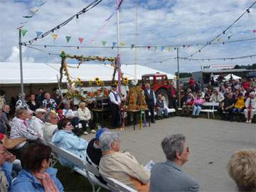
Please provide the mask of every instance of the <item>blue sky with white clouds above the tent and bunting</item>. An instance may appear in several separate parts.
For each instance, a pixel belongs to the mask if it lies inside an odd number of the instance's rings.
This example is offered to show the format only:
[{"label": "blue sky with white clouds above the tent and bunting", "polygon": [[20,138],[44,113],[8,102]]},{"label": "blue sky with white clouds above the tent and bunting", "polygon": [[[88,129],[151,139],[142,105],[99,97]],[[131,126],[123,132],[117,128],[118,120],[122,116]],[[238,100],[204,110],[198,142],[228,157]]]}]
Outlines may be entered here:
[{"label": "blue sky with white clouds above the tent and bunting", "polygon": [[[23,41],[36,37],[36,31],[46,32],[51,28],[82,10],[92,0],[48,0],[40,7],[32,18],[23,18],[29,15],[29,10],[44,0],[0,0],[0,61],[18,62],[18,26],[28,21],[23,29],[28,30]],[[120,42],[131,46],[135,41],[135,26],[137,24],[137,63],[150,68],[164,70],[169,73],[177,71],[175,45],[195,45],[179,48],[179,56],[191,55],[201,46],[197,43],[206,43],[238,18],[255,0],[139,0],[138,17],[137,0],[124,0],[119,12]],[[116,9],[115,0],[103,0],[95,8],[70,21],[68,25],[55,31],[58,38],[53,41],[51,34],[34,42],[38,45],[55,46],[97,46],[102,47],[117,42],[116,14],[108,22],[105,20]],[[105,25],[104,28],[102,28]],[[100,28],[102,32],[100,33]],[[218,41],[235,41],[247,38],[256,38],[256,5],[250,9],[235,25],[230,28]],[[65,36],[71,36],[67,43]],[[230,36],[230,39],[228,39]],[[78,38],[84,38],[82,44]],[[95,41],[92,41],[95,40]],[[216,42],[216,41],[215,41]],[[147,46],[151,46],[148,50]],[[156,50],[154,48],[156,46]],[[161,47],[165,46],[161,51]],[[168,50],[168,46],[171,50]],[[66,53],[77,55],[99,55],[114,57],[117,49],[114,48],[44,48],[50,53]],[[122,65],[135,62],[135,49],[120,48]],[[222,43],[206,46],[201,53],[193,58],[233,58],[243,55],[256,54],[256,41],[242,41],[238,43]],[[48,55],[38,50],[23,47],[23,61],[32,63],[60,63],[60,58]],[[75,60],[69,60],[76,63]],[[234,64],[247,65],[256,63],[256,57],[240,60],[180,60],[181,72],[200,70],[201,65]]]}]

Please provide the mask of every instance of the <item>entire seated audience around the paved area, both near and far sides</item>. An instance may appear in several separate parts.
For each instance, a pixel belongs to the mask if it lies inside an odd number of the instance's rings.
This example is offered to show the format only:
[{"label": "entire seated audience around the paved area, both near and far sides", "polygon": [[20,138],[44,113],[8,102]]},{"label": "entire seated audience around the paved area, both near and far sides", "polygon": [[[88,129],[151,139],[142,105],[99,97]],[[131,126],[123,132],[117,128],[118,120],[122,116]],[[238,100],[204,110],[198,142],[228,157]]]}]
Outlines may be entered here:
[{"label": "entire seated audience around the paved area, both near and far sides", "polygon": [[[193,117],[198,117],[203,102],[208,100],[219,102],[218,111],[220,114],[227,113],[230,120],[233,120],[234,113],[244,112],[246,122],[252,121],[256,109],[252,87],[245,90],[242,84],[235,81],[234,86],[223,85],[220,91],[213,90],[213,94],[211,87],[207,87],[205,92],[198,85],[196,92],[191,88],[183,93],[183,114],[188,115],[193,110]],[[88,134],[87,127],[95,133],[95,124],[84,102],[80,103],[78,112],[74,112],[70,102],[62,103],[56,95],[54,99],[49,93],[44,97],[42,95],[40,90],[35,100],[36,96],[31,94],[29,102],[22,102],[21,97],[26,97],[25,93],[19,95],[13,119],[9,119],[9,105],[0,110],[0,191],[64,191],[56,178],[57,170],[50,168],[51,149],[47,146],[48,142],[97,166],[102,176],[115,178],[137,191],[199,191],[194,178],[181,169],[189,155],[183,134],[164,138],[161,147],[166,161],[155,164],[149,171],[132,154],[120,151],[117,132],[102,128],[90,142],[80,138],[81,134]],[[175,100],[174,95],[172,97]],[[159,95],[155,109],[166,115],[163,102],[163,95]],[[174,105],[174,102],[170,104]],[[63,166],[73,167],[67,159],[58,160]],[[229,174],[241,190],[255,190],[255,162],[255,150],[238,151],[228,162]],[[99,180],[105,182],[100,177]]]}]

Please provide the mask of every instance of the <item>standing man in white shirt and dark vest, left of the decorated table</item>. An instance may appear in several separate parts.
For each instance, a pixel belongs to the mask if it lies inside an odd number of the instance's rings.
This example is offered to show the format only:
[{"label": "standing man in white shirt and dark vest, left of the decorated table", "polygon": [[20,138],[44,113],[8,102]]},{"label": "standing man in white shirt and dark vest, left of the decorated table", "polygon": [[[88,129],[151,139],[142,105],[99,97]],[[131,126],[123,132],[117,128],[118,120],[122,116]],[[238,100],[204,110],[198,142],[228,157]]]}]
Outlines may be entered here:
[{"label": "standing man in white shirt and dark vest, left of the decorated table", "polygon": [[112,128],[120,127],[121,99],[117,93],[117,85],[112,85],[112,90],[110,92],[109,97],[110,97]]}]

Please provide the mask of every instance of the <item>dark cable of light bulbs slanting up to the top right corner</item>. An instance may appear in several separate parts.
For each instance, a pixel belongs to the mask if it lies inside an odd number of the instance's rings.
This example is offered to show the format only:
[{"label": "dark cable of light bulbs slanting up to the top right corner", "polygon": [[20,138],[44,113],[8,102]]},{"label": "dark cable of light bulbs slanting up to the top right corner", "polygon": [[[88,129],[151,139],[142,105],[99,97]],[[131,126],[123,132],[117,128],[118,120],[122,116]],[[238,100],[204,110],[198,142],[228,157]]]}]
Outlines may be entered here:
[{"label": "dark cable of light bulbs slanting up to the top right corner", "polygon": [[[227,31],[236,23],[240,20],[240,18],[242,18],[242,16],[244,16],[245,14],[250,14],[250,8],[252,8],[252,6],[254,6],[256,4],[256,1],[248,8],[245,10],[244,13],[242,13],[237,19],[235,19],[235,21],[233,23],[230,24],[230,26],[228,26],[223,32],[221,32],[220,34],[218,34],[218,36],[216,36],[215,38],[213,38],[212,40],[208,41],[208,43],[206,43],[203,47],[201,47],[200,49],[196,50],[196,52],[192,53],[191,55],[187,56],[188,57],[193,57],[193,55],[196,55],[197,53],[200,53],[201,50],[203,50],[203,48],[206,48],[206,46],[210,45],[213,41],[220,41],[220,36],[225,35],[225,33],[227,33]],[[253,30],[253,33],[255,33],[256,31]]]}]

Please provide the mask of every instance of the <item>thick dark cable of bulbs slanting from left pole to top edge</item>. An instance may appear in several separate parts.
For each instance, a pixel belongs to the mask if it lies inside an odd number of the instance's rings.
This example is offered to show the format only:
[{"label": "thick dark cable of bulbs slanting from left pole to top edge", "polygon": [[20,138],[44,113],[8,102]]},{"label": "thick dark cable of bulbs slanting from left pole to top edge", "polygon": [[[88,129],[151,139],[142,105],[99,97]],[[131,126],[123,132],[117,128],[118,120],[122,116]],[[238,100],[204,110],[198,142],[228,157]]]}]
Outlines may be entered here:
[{"label": "thick dark cable of bulbs slanting from left pole to top edge", "polygon": [[41,33],[40,36],[37,36],[36,38],[33,38],[29,41],[25,41],[23,43],[21,43],[23,46],[26,46],[26,43],[33,43],[34,41],[37,41],[39,38],[45,38],[46,36],[48,36],[50,33],[53,33],[53,38],[57,38],[58,34],[54,34],[54,31],[62,28],[63,26],[65,26],[66,24],[68,24],[70,21],[73,20],[73,18],[79,18],[79,16],[81,14],[85,14],[87,11],[89,11],[90,9],[92,9],[93,7],[97,6],[97,4],[100,4],[102,0],[95,0],[92,1],[92,3],[90,3],[88,6],[86,6],[84,9],[82,9],[81,11],[79,11],[77,14],[71,16],[70,18],[68,18],[66,21],[64,21],[63,23],[60,23],[58,26],[55,26],[54,28],[50,29],[49,31],[46,31],[46,33]]}]

